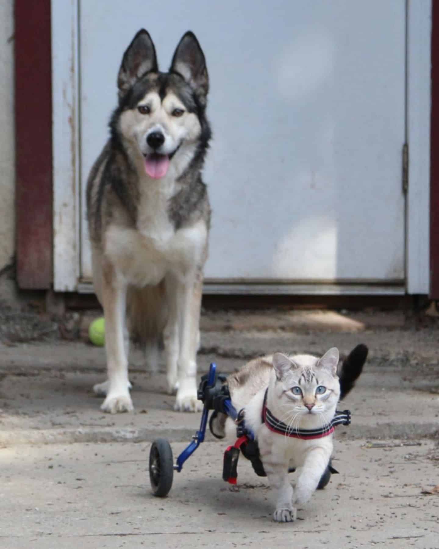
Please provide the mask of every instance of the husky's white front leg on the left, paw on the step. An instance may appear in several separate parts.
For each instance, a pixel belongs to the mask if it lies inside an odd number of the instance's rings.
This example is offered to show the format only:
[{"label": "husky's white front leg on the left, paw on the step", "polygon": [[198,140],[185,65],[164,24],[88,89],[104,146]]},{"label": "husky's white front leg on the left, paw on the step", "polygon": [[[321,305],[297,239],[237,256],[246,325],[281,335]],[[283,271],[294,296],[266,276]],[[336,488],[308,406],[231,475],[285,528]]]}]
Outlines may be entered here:
[{"label": "husky's white front leg on the left, paw on the step", "polygon": [[131,412],[133,404],[128,386],[126,355],[126,283],[117,279],[114,268],[103,268],[103,306],[105,315],[105,350],[108,368],[104,412]]}]

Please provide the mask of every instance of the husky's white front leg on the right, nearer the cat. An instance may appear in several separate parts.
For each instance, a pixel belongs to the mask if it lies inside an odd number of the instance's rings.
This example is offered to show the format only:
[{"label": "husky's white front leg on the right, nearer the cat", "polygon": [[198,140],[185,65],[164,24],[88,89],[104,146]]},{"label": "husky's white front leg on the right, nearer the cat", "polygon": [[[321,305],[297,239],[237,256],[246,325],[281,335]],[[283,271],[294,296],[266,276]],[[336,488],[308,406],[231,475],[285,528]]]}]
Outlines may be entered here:
[{"label": "husky's white front leg on the right, nearer the cat", "polygon": [[202,403],[196,397],[196,351],[199,345],[199,324],[202,294],[202,276],[191,273],[184,284],[179,284],[177,310],[180,334],[178,356],[178,390],[175,410],[197,412]]}]

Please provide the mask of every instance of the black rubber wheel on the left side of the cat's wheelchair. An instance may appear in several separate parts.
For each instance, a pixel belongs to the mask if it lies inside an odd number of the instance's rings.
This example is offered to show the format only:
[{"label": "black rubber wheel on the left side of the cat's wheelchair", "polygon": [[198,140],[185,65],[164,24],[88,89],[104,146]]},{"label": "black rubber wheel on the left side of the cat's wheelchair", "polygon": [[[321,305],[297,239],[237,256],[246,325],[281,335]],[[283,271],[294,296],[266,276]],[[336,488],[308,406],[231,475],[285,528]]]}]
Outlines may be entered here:
[{"label": "black rubber wheel on the left side of the cat's wheelchair", "polygon": [[153,494],[166,497],[171,490],[174,463],[171,445],[166,439],[156,439],[149,452],[149,480]]}]

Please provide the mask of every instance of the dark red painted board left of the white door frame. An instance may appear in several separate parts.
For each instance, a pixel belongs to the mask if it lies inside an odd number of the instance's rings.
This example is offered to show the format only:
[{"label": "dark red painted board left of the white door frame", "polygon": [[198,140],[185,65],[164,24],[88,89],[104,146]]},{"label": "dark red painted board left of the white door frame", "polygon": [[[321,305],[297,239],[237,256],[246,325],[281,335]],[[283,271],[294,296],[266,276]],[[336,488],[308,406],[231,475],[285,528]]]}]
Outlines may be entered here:
[{"label": "dark red painted board left of the white door frame", "polygon": [[50,0],[15,0],[15,220],[20,288],[53,282]]}]

